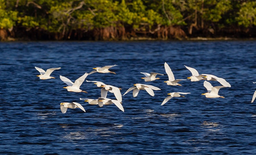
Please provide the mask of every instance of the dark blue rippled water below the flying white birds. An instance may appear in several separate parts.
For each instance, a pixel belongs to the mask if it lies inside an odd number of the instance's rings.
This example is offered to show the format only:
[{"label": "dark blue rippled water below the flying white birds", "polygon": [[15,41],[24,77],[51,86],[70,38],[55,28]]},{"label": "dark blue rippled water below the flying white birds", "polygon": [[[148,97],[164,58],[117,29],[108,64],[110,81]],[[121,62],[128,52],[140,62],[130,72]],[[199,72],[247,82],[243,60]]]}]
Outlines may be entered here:
[{"label": "dark blue rippled water below the flying white birds", "polygon": [[[1,42],[0,154],[255,154],[256,41],[194,42]],[[169,86],[161,79],[144,82],[140,72],[176,79],[200,74],[226,79],[231,87],[205,98],[203,81]],[[115,105],[98,107],[79,98],[97,99],[100,88],[84,82],[86,93],[67,92],[59,79],[76,80],[94,67],[114,65],[115,74],[94,73],[86,80],[122,88],[135,83],[161,88],[150,96],[140,91],[123,96],[125,112]],[[57,68],[56,79],[40,80],[35,66]],[[213,86],[220,85],[211,82]],[[171,92],[190,92],[162,101]],[[108,93],[108,97],[114,96]],[[78,102],[86,110],[60,110],[61,102]]]}]

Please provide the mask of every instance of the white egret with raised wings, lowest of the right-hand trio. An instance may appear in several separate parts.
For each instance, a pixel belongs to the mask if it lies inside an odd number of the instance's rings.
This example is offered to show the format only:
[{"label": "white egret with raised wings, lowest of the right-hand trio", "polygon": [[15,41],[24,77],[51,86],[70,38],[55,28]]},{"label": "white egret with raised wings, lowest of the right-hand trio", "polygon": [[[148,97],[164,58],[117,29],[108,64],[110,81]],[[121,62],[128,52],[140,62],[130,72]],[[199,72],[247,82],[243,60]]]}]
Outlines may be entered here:
[{"label": "white egret with raised wings, lowest of the right-hand trio", "polygon": [[210,82],[204,81],[203,86],[207,89],[207,93],[203,93],[202,95],[205,95],[207,98],[225,98],[224,96],[218,95],[218,92],[221,88],[226,87],[226,86],[215,86],[213,87]]}]

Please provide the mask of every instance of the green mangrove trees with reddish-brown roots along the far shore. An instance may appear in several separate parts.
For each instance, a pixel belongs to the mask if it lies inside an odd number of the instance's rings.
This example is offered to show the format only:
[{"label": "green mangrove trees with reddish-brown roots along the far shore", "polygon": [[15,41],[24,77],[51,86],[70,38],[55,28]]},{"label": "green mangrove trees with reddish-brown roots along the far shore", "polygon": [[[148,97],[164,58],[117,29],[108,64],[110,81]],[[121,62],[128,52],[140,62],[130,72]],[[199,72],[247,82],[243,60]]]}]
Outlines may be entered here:
[{"label": "green mangrove trees with reddish-brown roots along the far shore", "polygon": [[255,38],[255,0],[0,0],[1,41]]}]

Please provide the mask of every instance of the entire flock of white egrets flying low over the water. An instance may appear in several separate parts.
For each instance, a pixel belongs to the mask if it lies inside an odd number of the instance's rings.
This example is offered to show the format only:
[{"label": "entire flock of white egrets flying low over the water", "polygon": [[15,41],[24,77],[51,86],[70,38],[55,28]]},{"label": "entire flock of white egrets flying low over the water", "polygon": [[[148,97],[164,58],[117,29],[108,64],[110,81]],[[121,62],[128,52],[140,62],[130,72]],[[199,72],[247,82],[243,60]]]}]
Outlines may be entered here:
[{"label": "entire flock of white egrets flying low over the water", "polygon": [[[67,84],[66,87],[63,87],[65,89],[67,89],[67,91],[69,92],[84,92],[87,93],[86,91],[83,91],[80,89],[80,86],[82,85],[82,83],[84,82],[85,78],[93,73],[113,73],[116,74],[115,72],[111,72],[109,71],[110,68],[117,66],[117,65],[110,65],[110,66],[103,66],[103,67],[97,67],[97,68],[93,68],[94,70],[91,71],[90,73],[85,73],[83,74],[81,77],[79,77],[78,79],[75,80],[75,82],[72,82],[70,79],[68,79],[67,77],[64,77],[62,75],[60,75],[60,79]],[[185,65],[184,65],[185,66]],[[231,87],[231,85],[223,78],[211,75],[211,74],[199,74],[198,71],[196,71],[194,68],[185,66],[186,69],[188,69],[191,72],[191,76],[187,77],[187,79],[175,79],[173,72],[170,68],[170,66],[165,62],[164,63],[164,68],[165,68],[165,72],[168,75],[168,81],[164,81],[167,85],[179,85],[181,86],[181,84],[179,84],[178,82],[182,81],[182,80],[188,80],[190,79],[192,82],[195,81],[200,81],[200,80],[207,80],[204,81],[203,85],[204,87],[207,89],[207,93],[203,93],[202,95],[205,95],[205,97],[207,98],[217,98],[217,97],[221,97],[224,98],[223,96],[218,95],[218,92],[221,88],[223,87]],[[51,73],[55,70],[59,70],[61,68],[50,68],[47,69],[46,71],[44,71],[41,68],[35,67],[35,69],[37,71],[40,72],[40,75],[37,75],[41,80],[46,80],[46,79],[55,79],[55,77],[50,76]],[[155,73],[155,72],[151,72],[149,73],[145,73],[145,72],[140,72],[141,74],[144,74],[145,77],[141,77],[141,79],[144,79],[145,82],[149,82],[149,81],[154,81],[154,80],[158,80],[159,77],[156,77],[157,75],[164,75],[164,74],[160,74],[160,73]],[[218,81],[221,86],[212,86],[210,82],[208,81]],[[103,82],[100,81],[88,81],[86,80],[86,82],[93,82],[94,84],[97,85],[97,87],[101,87],[101,97],[99,97],[98,99],[81,99],[80,100],[84,100],[85,102],[88,102],[89,104],[92,105],[99,105],[100,107],[102,107],[103,105],[110,105],[110,104],[115,104],[121,111],[124,112],[124,107],[122,106],[122,96],[124,96],[125,94],[127,94],[128,92],[132,91],[132,95],[133,97],[137,97],[138,93],[140,90],[145,90],[149,95],[154,96],[154,91],[153,90],[161,90],[156,86],[153,85],[147,85],[147,84],[140,84],[140,83],[136,83],[134,84],[134,86],[130,87],[123,95],[121,95],[120,89],[118,87],[112,86],[112,85],[107,85],[104,84]],[[253,82],[256,83],[256,82]],[[116,100],[113,99],[108,99],[107,98],[107,93],[113,93],[116,97]],[[182,94],[182,95],[180,95]],[[170,99],[172,99],[172,97],[185,97],[183,95],[186,94],[190,94],[190,93],[186,93],[186,92],[172,92],[172,93],[168,93],[169,96],[167,96],[164,101],[162,102],[161,105],[164,105],[167,101],[169,101]],[[254,102],[256,97],[256,91],[254,92],[253,98],[251,103]],[[72,102],[72,103],[68,103],[68,102],[62,102],[60,103],[61,106],[61,112],[62,113],[66,113],[67,109],[75,109],[75,108],[80,108],[82,111],[85,112],[83,106],[80,103],[76,103],[76,102]]]}]

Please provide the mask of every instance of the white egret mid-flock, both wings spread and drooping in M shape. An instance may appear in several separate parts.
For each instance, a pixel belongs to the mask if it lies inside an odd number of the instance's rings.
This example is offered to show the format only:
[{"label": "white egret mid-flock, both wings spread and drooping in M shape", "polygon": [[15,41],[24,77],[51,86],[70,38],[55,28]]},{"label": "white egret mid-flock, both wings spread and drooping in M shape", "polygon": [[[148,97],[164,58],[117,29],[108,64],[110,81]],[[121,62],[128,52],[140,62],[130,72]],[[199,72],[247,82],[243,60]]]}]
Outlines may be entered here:
[{"label": "white egret mid-flock, both wings spread and drooping in M shape", "polygon": [[[125,94],[128,93],[128,92],[131,91],[131,90],[133,90],[133,92],[132,92],[133,97],[136,97],[136,96],[138,95],[138,93],[139,93],[140,90],[146,90],[146,91],[149,93],[149,95],[154,96],[155,94],[154,94],[153,90],[161,90],[161,89],[158,88],[158,87],[155,87],[155,86],[153,86],[153,85],[147,85],[147,84],[139,84],[139,83],[136,83],[136,84],[134,84],[133,87],[130,87],[130,88],[125,92]],[[125,95],[125,94],[124,94],[124,95]],[[124,95],[123,95],[123,96],[124,96]]]}]

